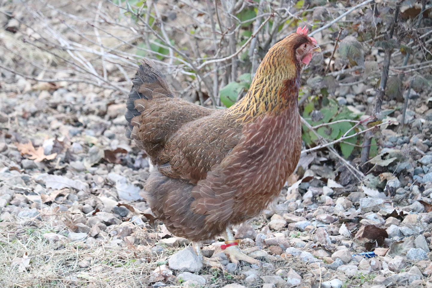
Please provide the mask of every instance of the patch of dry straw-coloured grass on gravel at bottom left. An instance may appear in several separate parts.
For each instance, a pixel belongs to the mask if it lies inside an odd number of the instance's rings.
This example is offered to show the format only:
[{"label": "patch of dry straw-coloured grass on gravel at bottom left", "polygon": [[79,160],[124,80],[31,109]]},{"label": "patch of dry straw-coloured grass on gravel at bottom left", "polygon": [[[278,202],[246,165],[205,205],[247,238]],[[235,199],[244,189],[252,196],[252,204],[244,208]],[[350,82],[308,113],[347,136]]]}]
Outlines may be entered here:
[{"label": "patch of dry straw-coloured grass on gravel at bottom left", "polygon": [[[44,239],[41,221],[2,222],[1,287],[143,287],[157,262],[147,252],[119,246],[110,237],[88,244]],[[59,232],[61,234],[61,232]],[[80,267],[88,260],[88,267]]]}]

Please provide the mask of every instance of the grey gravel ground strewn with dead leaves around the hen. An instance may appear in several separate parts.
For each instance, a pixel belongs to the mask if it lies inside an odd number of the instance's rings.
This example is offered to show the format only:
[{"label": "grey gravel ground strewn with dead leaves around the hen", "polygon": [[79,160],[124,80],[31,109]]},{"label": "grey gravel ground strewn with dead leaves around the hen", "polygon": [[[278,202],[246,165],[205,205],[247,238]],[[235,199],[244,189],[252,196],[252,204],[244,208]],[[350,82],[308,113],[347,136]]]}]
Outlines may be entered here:
[{"label": "grey gravel ground strewn with dead leaves around the hen", "polygon": [[[3,69],[0,80],[1,287],[432,287],[430,92],[411,97],[407,125],[381,126],[363,182],[325,149],[303,155],[275,203],[234,227],[264,266],[224,259],[222,272],[139,195],[152,167],[124,137],[124,93]],[[337,101],[367,114],[368,88]],[[223,256],[219,240],[204,255]]]}]

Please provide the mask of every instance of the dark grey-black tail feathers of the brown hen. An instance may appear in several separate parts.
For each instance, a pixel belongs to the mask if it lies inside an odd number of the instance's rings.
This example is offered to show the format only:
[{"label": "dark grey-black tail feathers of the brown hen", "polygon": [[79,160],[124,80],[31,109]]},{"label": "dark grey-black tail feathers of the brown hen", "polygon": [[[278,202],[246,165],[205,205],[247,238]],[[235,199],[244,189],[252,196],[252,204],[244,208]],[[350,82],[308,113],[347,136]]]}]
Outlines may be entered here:
[{"label": "dark grey-black tail feathers of the brown hen", "polygon": [[132,118],[141,114],[137,109],[135,109],[135,100],[149,100],[161,96],[174,97],[174,93],[172,93],[168,83],[166,83],[163,74],[153,66],[152,62],[145,58],[141,59],[141,65],[138,67],[137,74],[135,74],[132,83],[133,86],[126,102],[127,111],[124,114],[124,117],[128,122],[124,134],[128,139],[132,139]]}]

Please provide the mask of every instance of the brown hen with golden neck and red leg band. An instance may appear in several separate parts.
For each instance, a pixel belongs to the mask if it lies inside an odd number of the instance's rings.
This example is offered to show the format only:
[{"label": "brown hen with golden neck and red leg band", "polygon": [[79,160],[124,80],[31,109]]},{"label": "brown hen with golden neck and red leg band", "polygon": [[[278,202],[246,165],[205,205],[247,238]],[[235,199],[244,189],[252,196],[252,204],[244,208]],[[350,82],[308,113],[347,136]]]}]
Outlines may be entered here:
[{"label": "brown hen with golden neck and red leg band", "polygon": [[194,242],[224,234],[232,262],[260,264],[238,249],[230,226],[256,217],[280,193],[300,157],[300,74],[314,51],[297,29],[264,57],[248,93],[228,109],[176,97],[143,59],[127,101],[126,136],[156,169],[143,196],[172,234]]}]

